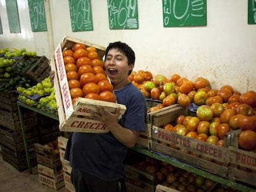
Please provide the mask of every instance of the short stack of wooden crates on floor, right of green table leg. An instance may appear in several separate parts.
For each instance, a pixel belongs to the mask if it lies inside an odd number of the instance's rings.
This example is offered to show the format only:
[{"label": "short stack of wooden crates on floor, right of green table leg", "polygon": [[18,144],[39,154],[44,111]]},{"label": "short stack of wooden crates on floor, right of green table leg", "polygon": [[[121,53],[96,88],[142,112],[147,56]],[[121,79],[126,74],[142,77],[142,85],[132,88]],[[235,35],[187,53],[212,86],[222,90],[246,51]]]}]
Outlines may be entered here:
[{"label": "short stack of wooden crates on floor, right of green table leg", "polygon": [[44,145],[35,143],[35,151],[40,182],[55,190],[62,188],[64,177],[59,158],[58,141],[51,141]]}]

